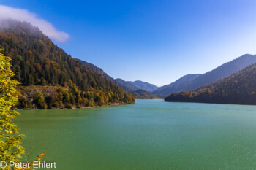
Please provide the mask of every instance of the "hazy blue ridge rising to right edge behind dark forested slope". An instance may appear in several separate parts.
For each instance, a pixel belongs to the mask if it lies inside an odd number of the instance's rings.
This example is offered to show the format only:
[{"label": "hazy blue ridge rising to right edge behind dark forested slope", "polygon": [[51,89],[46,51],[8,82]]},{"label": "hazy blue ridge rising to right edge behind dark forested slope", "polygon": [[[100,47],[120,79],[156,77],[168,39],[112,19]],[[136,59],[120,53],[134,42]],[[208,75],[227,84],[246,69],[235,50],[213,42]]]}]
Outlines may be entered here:
[{"label": "hazy blue ridge rising to right edge behind dark forested slope", "polygon": [[256,55],[242,55],[239,58],[234,59],[233,61],[222,64],[222,66],[217,67],[216,69],[201,74],[195,78],[195,80],[189,82],[182,82],[180,85],[167,86],[165,90],[159,88],[153,93],[157,96],[167,96],[170,93],[178,93],[180,91],[194,90],[199,88],[201,85],[206,85],[209,82],[215,82],[222,77],[229,76],[235,72],[238,72],[244,67],[249,66],[250,64],[256,63]]}]

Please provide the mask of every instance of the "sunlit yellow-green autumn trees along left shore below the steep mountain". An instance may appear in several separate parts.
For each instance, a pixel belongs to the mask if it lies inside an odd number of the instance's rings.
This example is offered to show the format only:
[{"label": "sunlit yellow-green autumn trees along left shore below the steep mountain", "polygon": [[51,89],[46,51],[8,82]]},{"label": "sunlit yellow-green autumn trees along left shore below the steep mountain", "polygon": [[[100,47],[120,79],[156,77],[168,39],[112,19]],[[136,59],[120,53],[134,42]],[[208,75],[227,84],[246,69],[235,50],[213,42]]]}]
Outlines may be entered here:
[{"label": "sunlit yellow-green autumn trees along left shore below the steep mountain", "polygon": [[[53,89],[44,89],[44,87],[32,86],[26,87],[34,90],[30,97],[27,92],[18,89],[22,96],[18,98],[16,107],[23,109],[39,108],[68,108],[72,107],[94,107],[113,103],[132,104],[134,97],[127,93],[114,93],[110,91],[104,93],[102,90],[82,91],[78,90],[76,85],[69,81],[67,87],[58,87]],[[34,89],[36,88],[36,89]],[[30,90],[31,91],[31,90]]]}]

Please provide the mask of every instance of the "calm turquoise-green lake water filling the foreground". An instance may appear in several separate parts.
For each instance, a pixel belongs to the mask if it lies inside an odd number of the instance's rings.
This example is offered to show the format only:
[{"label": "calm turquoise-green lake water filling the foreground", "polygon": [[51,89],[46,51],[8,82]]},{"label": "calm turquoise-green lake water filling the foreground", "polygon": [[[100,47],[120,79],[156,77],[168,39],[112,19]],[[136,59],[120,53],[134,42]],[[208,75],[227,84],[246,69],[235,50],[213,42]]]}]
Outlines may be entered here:
[{"label": "calm turquoise-green lake water filling the foreground", "polygon": [[256,169],[256,107],[136,104],[20,111],[30,160],[57,169]]}]

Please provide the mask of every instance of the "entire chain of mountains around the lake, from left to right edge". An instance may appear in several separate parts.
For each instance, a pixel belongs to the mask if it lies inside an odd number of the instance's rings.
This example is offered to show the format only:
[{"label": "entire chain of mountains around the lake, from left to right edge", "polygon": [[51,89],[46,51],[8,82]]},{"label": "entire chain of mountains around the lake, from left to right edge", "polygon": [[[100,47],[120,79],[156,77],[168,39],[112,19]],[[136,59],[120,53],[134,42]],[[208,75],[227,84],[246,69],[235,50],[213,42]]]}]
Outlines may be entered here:
[{"label": "entire chain of mountains around the lake, from left to right edge", "polygon": [[221,104],[256,104],[256,55],[245,54],[205,74],[187,74],[169,85],[114,79],[92,63],[72,58],[26,22],[0,26],[1,53],[12,58],[21,84],[19,109],[59,109],[133,104],[165,98]]}]

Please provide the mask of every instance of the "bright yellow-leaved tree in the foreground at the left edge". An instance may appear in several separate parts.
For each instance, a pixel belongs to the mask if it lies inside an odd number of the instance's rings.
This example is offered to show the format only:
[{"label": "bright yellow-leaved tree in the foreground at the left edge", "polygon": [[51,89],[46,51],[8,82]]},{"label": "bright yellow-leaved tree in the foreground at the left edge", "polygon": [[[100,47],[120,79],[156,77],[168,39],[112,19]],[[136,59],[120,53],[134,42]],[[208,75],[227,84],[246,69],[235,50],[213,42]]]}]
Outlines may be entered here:
[{"label": "bright yellow-leaved tree in the foreground at the left edge", "polygon": [[0,47],[0,160],[18,161],[20,154],[24,153],[20,146],[23,135],[18,133],[18,128],[12,122],[18,115],[16,111],[10,111],[18,102],[19,93],[15,89],[18,81],[12,80],[15,74],[10,69],[10,58],[4,56]]}]

